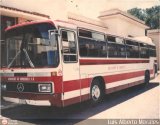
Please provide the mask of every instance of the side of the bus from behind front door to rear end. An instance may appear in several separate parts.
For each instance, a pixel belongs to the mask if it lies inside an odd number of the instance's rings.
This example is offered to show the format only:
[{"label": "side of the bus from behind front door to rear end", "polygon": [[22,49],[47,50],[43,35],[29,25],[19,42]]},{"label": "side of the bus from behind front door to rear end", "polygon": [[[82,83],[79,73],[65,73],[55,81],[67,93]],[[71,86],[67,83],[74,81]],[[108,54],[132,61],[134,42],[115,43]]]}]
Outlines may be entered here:
[{"label": "side of the bus from behind front door to rear end", "polygon": [[[154,78],[156,49],[152,42],[79,28],[81,93],[94,102],[101,96],[135,85],[148,85]],[[85,80],[84,80],[85,79]]]}]

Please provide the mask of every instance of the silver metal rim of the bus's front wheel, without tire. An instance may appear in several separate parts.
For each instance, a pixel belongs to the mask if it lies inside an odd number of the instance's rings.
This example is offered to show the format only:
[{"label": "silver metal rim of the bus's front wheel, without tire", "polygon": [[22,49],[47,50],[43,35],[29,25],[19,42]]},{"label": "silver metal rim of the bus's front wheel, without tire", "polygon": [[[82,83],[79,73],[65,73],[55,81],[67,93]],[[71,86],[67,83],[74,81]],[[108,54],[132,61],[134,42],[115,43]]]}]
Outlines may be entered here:
[{"label": "silver metal rim of the bus's front wheel, without tire", "polygon": [[92,99],[97,101],[100,97],[100,88],[97,85],[92,87]]}]

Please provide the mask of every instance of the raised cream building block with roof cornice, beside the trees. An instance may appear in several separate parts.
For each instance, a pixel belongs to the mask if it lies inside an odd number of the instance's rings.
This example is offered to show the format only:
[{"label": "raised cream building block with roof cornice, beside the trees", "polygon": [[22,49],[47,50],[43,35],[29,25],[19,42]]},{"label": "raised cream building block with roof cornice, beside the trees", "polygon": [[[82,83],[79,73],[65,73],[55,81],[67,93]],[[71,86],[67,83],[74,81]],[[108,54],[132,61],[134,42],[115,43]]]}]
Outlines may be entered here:
[{"label": "raised cream building block with roof cornice, beside the trees", "polygon": [[108,27],[109,33],[124,37],[145,36],[145,29],[149,28],[144,21],[117,8],[100,12],[98,18]]}]

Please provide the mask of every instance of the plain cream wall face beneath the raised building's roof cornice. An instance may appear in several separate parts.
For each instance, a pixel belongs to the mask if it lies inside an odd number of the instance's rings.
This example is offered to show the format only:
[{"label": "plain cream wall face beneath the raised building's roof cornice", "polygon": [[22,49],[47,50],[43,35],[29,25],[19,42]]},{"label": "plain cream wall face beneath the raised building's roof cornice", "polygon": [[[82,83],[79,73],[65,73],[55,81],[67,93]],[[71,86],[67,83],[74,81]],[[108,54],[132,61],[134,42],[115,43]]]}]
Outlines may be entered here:
[{"label": "plain cream wall face beneath the raised building's roof cornice", "polygon": [[104,18],[108,32],[121,36],[145,36],[145,27],[121,15]]}]

